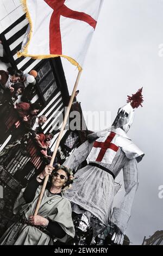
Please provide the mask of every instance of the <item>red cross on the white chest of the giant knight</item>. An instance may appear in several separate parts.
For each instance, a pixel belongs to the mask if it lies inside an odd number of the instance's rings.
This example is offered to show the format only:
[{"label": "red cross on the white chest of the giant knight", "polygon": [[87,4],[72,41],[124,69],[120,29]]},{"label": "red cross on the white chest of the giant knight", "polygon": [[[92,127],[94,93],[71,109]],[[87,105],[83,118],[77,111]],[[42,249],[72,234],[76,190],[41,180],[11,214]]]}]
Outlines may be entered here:
[{"label": "red cross on the white chest of the giant knight", "polygon": [[116,133],[115,132],[110,132],[110,135],[106,138],[105,142],[95,142],[93,144],[94,148],[101,148],[101,150],[99,151],[99,154],[97,156],[96,161],[97,162],[101,162],[107,149],[112,149],[115,152],[117,152],[118,147],[115,144],[112,144],[111,141],[112,139],[115,137]]}]

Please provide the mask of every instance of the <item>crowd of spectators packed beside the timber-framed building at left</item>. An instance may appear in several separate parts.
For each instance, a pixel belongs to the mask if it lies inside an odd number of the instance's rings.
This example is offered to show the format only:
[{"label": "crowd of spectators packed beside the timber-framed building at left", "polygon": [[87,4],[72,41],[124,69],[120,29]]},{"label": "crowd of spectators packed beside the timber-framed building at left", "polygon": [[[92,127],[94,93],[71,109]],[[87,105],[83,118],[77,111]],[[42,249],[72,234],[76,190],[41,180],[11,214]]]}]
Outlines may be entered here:
[{"label": "crowd of spectators packed beside the timber-framed building at left", "polygon": [[[34,73],[34,72],[33,72]],[[35,71],[36,73],[36,71]],[[32,75],[29,75],[32,76]],[[0,157],[5,157],[3,166],[7,167],[8,163],[14,159],[17,151],[17,139],[24,142],[26,139],[26,152],[30,160],[22,168],[19,168],[14,173],[15,178],[21,181],[30,173],[32,169],[35,172],[41,172],[42,168],[49,163],[52,157],[50,145],[53,139],[52,133],[43,133],[42,125],[46,123],[45,115],[37,116],[40,112],[39,103],[30,103],[22,101],[23,93],[26,94],[26,88],[30,87],[31,79],[28,79],[28,74],[23,74],[21,70],[8,68],[8,71],[0,70],[0,116],[1,116],[1,133],[0,143],[3,144],[5,139],[11,135],[10,144],[0,153]],[[33,77],[35,80],[35,77]],[[24,82],[27,80],[27,87]],[[31,80],[32,81],[32,80]],[[26,97],[25,97],[26,98]],[[30,135],[30,136],[27,136]]]}]

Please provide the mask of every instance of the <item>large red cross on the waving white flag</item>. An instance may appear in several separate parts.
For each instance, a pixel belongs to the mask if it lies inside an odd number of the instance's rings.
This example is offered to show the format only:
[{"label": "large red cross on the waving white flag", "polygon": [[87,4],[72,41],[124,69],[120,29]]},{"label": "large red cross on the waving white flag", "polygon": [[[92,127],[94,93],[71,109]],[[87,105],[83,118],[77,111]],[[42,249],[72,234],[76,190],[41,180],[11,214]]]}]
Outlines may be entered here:
[{"label": "large red cross on the waving white flag", "polygon": [[54,11],[50,21],[50,54],[62,54],[61,32],[60,32],[60,16],[80,20],[88,23],[94,29],[97,21],[90,15],[79,11],[71,10],[64,4],[66,0],[44,0]]}]

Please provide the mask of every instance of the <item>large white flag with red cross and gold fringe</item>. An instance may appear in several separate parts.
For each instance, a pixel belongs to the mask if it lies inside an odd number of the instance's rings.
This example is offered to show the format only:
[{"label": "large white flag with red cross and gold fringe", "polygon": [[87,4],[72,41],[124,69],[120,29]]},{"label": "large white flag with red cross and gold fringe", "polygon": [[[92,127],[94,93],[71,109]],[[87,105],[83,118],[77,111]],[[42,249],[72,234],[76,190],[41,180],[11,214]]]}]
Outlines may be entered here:
[{"label": "large white flag with red cross and gold fringe", "polygon": [[103,0],[22,0],[29,27],[18,57],[65,57],[81,70]]}]

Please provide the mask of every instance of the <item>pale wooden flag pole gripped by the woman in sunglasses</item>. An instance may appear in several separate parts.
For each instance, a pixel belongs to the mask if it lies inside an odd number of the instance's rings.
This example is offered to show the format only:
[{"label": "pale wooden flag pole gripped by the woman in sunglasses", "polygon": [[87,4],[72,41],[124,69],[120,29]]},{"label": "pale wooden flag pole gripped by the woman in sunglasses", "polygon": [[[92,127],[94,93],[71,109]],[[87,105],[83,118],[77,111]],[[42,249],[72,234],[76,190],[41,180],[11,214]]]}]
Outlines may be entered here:
[{"label": "pale wooden flag pole gripped by the woman in sunglasses", "polygon": [[[70,113],[70,109],[71,109],[71,106],[72,106],[73,98],[74,98],[74,95],[75,95],[75,93],[76,93],[76,90],[77,90],[77,87],[78,87],[78,83],[79,83],[79,79],[80,79],[81,74],[82,74],[82,70],[80,70],[80,71],[78,72],[78,76],[77,76],[76,82],[75,82],[74,87],[73,87],[72,95],[71,95],[71,97],[70,97],[70,102],[68,103],[68,107],[67,107],[67,109],[66,109],[64,121],[63,121],[63,123],[62,123],[61,130],[60,130],[60,132],[59,132],[59,136],[58,136],[58,139],[57,139],[57,143],[55,144],[54,152],[53,152],[52,159],[51,159],[51,162],[50,162],[50,165],[51,165],[51,166],[53,166],[54,159],[55,159],[55,156],[56,156],[56,154],[57,154],[57,150],[58,150],[58,147],[59,147],[59,144],[60,144],[60,141],[61,141],[62,133],[64,132],[65,125],[66,125],[66,123],[67,123],[68,115],[69,115],[69,113]],[[43,197],[43,194],[44,194],[44,192],[45,192],[45,188],[46,188],[46,185],[47,185],[47,182],[48,182],[48,178],[49,178],[49,175],[47,175],[47,176],[45,177],[45,180],[44,180],[44,182],[43,182],[42,190],[41,190],[39,199],[38,199],[38,201],[37,201],[37,205],[36,205],[36,209],[35,209],[35,212],[34,212],[34,216],[36,216],[37,213],[38,213],[38,211],[39,211],[40,204],[41,204],[41,200],[42,200],[42,197]]]}]

